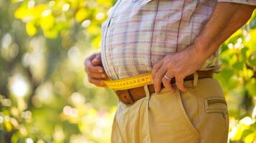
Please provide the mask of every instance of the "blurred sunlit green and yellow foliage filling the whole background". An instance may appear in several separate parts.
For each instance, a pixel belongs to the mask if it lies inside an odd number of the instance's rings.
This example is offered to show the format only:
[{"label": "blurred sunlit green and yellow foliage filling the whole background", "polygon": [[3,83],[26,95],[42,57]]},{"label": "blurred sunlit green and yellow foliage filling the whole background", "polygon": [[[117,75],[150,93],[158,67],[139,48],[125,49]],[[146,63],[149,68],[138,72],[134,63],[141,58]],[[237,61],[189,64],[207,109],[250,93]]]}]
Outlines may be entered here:
[{"label": "blurred sunlit green and yellow foliage filling the whole background", "polygon": [[[0,142],[110,142],[117,98],[87,82],[115,0],[0,0]],[[230,142],[256,142],[256,14],[219,50]]]}]

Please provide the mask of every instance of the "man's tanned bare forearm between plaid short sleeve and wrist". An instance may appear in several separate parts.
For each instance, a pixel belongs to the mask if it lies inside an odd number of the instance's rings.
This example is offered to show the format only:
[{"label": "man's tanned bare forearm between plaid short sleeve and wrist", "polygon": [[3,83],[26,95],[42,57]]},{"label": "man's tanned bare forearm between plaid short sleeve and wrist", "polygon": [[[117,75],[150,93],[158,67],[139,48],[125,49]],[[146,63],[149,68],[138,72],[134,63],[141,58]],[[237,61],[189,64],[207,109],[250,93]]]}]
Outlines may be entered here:
[{"label": "man's tanned bare forearm between plaid short sleeve and wrist", "polygon": [[201,34],[196,37],[194,46],[202,53],[202,60],[217,51],[219,46],[237,29],[240,29],[252,15],[255,6],[233,3],[218,3]]}]

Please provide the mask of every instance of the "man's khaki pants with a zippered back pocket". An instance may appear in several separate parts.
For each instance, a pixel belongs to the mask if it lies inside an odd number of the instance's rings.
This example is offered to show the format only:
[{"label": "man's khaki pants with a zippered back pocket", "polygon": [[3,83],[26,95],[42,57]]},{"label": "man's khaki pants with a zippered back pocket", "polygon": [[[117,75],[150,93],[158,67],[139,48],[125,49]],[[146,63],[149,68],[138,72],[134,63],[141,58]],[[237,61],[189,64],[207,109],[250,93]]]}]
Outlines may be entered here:
[{"label": "man's khaki pants with a zippered back pocket", "polygon": [[113,143],[226,143],[229,116],[224,94],[212,78],[184,82],[187,92],[162,89],[131,105],[118,102]]}]

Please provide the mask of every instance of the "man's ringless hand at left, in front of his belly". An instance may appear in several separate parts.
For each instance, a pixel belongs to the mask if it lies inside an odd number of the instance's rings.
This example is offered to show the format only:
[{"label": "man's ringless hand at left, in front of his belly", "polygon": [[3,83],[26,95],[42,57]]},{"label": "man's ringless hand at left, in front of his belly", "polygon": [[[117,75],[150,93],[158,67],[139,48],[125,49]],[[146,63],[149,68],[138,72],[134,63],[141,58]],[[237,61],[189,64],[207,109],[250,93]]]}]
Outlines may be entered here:
[{"label": "man's ringless hand at left, in front of his belly", "polygon": [[85,59],[85,71],[88,81],[98,87],[106,87],[101,80],[108,80],[107,74],[103,69],[100,53],[93,54]]}]

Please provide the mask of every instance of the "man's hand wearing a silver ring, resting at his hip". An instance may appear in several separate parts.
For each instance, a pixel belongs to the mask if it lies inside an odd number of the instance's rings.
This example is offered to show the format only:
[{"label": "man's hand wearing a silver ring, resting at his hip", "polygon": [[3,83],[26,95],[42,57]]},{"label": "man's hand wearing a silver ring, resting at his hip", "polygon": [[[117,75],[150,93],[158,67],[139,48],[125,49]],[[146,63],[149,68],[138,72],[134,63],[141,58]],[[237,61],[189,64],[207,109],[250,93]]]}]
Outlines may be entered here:
[{"label": "man's hand wearing a silver ring, resting at his hip", "polygon": [[176,86],[182,92],[186,92],[184,87],[184,78],[202,67],[207,59],[200,54],[194,45],[189,46],[183,51],[175,54],[166,55],[163,59],[153,65],[152,79],[156,93],[161,91],[161,82],[163,86],[174,92],[174,87],[171,86],[171,80],[166,79],[164,75],[170,79],[175,78]]}]

